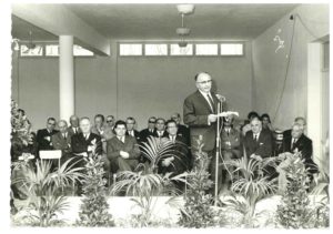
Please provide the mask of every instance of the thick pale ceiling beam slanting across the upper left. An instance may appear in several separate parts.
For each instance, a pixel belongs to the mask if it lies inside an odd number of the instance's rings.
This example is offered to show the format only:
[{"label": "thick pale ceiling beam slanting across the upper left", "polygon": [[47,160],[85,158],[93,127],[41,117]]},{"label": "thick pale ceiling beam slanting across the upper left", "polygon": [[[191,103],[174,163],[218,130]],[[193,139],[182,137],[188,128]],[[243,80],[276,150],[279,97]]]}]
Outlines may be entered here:
[{"label": "thick pale ceiling beam slanting across the upper left", "polygon": [[12,4],[12,13],[52,34],[73,35],[75,43],[110,55],[110,41],[62,4]]}]

